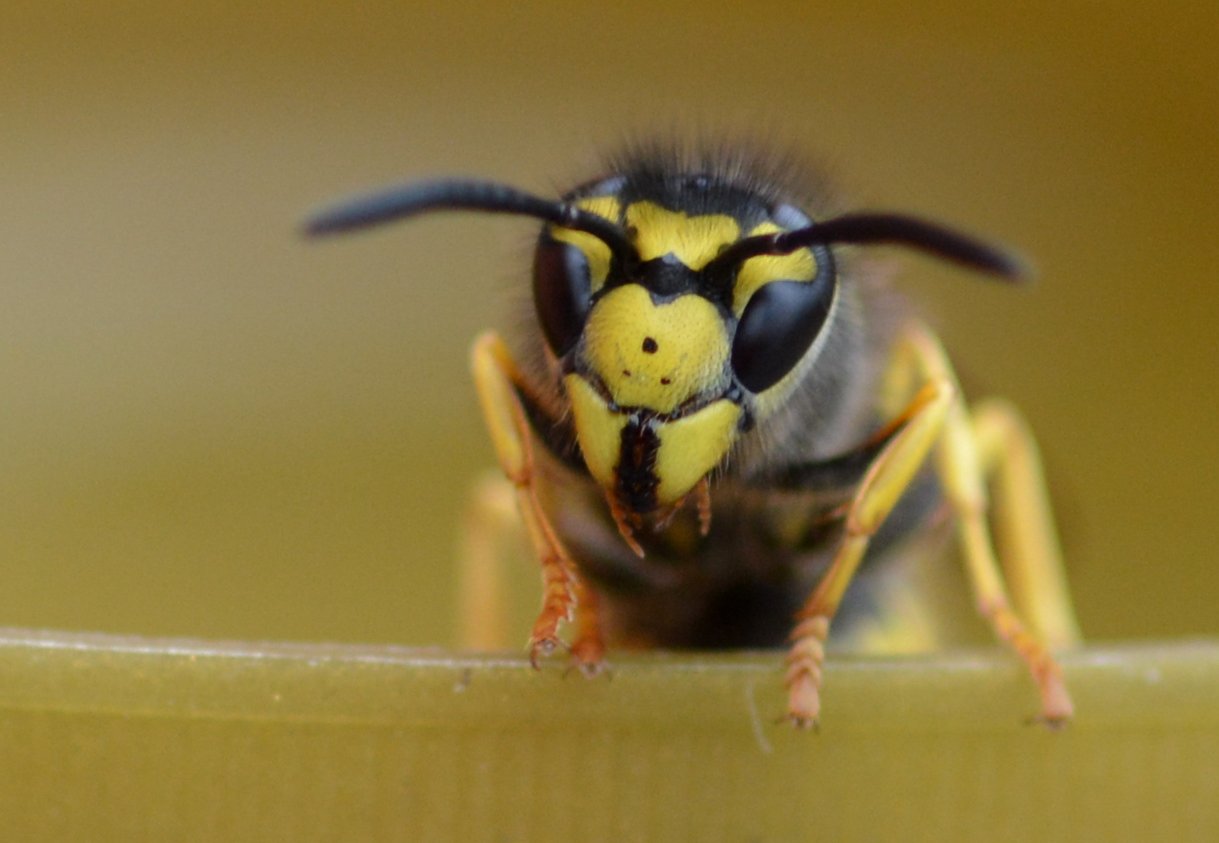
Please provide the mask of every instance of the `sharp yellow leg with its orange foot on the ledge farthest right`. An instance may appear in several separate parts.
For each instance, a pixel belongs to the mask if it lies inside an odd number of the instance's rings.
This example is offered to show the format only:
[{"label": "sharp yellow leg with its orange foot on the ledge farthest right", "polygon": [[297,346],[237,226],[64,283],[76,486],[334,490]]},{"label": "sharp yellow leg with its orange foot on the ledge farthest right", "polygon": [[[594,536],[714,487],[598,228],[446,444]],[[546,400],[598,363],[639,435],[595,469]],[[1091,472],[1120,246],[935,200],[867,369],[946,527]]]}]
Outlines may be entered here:
[{"label": "sharp yellow leg with its orange foot on the ledge farthest right", "polygon": [[[922,325],[900,344],[895,367],[909,367],[923,378],[956,383],[952,365],[939,341]],[[957,515],[957,534],[974,599],[995,635],[1025,663],[1041,694],[1039,719],[1050,726],[1070,719],[1074,707],[1062,669],[1050,651],[1025,627],[1012,609],[1000,573],[987,524],[987,497],[975,429],[963,401],[954,401],[945,419],[936,452],[936,471]],[[1022,525],[1023,529],[1023,525]]]}]

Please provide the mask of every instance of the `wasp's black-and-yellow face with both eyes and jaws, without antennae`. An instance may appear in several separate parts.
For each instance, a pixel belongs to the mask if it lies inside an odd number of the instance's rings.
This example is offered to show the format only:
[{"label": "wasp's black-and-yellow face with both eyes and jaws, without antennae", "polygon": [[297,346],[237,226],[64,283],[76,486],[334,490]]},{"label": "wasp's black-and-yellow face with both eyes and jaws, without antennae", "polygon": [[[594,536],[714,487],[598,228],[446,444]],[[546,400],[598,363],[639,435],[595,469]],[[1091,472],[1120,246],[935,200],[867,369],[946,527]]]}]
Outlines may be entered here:
[{"label": "wasp's black-and-yellow face with both eyes and jaws, without antennae", "polygon": [[809,220],[706,175],[613,179],[568,201],[620,225],[633,246],[616,255],[553,225],[539,241],[534,300],[580,451],[623,509],[673,506],[724,462],[757,395],[781,391],[813,344],[834,295],[828,252],[717,262],[745,236]]}]

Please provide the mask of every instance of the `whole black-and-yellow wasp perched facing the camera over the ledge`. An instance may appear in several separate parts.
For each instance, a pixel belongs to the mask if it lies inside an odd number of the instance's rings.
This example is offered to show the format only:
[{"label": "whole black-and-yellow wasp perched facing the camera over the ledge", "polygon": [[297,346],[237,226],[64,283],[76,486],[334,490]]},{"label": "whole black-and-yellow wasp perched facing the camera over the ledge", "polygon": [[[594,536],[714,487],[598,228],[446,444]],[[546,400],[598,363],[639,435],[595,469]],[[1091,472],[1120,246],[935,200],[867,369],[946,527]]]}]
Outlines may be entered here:
[{"label": "whole black-and-yellow wasp perched facing the camera over the ledge", "polygon": [[[852,581],[951,518],[978,610],[1028,666],[1039,719],[1063,724],[1051,651],[1079,631],[1032,437],[1009,404],[967,404],[936,335],[861,252],[1001,280],[1023,266],[913,216],[829,214],[807,185],[780,158],[636,147],[558,199],[424,180],[307,230],[436,211],[541,223],[524,330],[472,350],[541,566],[535,668],[561,647],[595,674],[610,644],[786,646],[786,718],[816,726],[831,625],[850,637],[886,612]],[[992,532],[1012,536],[1002,560]]]}]

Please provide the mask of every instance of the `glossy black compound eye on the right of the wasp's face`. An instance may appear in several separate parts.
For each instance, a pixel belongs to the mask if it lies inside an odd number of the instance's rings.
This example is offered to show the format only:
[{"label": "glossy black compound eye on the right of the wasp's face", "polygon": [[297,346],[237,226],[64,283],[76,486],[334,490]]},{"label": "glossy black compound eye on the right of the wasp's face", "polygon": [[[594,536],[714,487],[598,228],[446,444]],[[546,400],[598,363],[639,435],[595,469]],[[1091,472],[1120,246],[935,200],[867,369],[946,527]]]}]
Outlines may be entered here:
[{"label": "glossy black compound eye on the right of the wasp's face", "polygon": [[733,372],[751,392],[762,392],[800,362],[825,324],[834,300],[834,273],[812,281],[770,281],[750,296],[733,340]]}]

